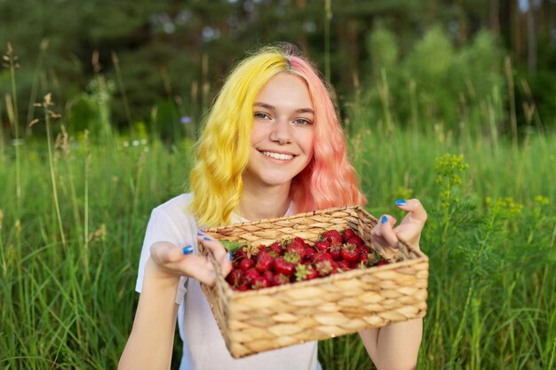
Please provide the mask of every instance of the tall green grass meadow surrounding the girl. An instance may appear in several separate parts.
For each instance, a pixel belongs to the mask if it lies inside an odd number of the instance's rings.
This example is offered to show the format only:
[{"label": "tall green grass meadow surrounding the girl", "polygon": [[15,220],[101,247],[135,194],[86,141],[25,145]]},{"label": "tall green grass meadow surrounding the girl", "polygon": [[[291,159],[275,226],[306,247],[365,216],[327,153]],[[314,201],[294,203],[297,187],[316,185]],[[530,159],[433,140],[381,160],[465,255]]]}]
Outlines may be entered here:
[{"label": "tall green grass meadow surrounding the girl", "polygon": [[[556,136],[518,140],[489,114],[460,125],[488,134],[402,127],[387,106],[377,118],[353,104],[349,153],[369,212],[401,218],[393,201],[417,197],[429,213],[418,368],[555,368]],[[145,125],[115,132],[99,112],[102,130],[68,132],[50,97],[36,109],[44,138],[0,131],[0,368],[115,368],[150,211],[187,191],[191,130],[168,143]],[[320,342],[319,358],[374,368],[357,335]]]}]

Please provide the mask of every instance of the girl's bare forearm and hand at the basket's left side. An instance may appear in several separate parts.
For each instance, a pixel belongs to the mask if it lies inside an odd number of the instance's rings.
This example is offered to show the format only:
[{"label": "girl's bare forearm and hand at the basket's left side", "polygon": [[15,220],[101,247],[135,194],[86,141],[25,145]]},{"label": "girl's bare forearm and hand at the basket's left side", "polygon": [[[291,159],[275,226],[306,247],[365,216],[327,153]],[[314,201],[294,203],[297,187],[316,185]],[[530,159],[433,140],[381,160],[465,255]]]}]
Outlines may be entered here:
[{"label": "girl's bare forearm and hand at the basket's left side", "polygon": [[[225,275],[232,270],[227,251],[218,240],[201,235],[198,241],[210,249]],[[179,277],[190,276],[208,285],[215,280],[214,266],[204,256],[184,254],[185,248],[165,241],[153,244],[150,252],[131,335],[118,365],[121,370],[169,369],[179,308],[175,303]]]}]

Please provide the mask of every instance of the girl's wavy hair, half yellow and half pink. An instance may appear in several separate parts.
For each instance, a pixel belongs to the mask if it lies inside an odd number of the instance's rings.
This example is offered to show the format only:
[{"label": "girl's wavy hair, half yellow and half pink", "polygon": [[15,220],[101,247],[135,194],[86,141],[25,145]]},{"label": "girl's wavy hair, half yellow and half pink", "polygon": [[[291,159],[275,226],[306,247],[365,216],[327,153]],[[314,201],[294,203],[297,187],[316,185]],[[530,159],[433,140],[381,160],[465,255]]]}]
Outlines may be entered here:
[{"label": "girl's wavy hair, half yellow and half pink", "polygon": [[290,44],[265,47],[243,59],[228,75],[195,145],[190,174],[191,211],[199,224],[228,224],[242,196],[253,127],[253,104],[266,83],[279,73],[306,81],[314,120],[314,155],[290,186],[298,212],[365,204],[328,85],[317,69]]}]

